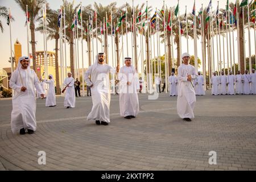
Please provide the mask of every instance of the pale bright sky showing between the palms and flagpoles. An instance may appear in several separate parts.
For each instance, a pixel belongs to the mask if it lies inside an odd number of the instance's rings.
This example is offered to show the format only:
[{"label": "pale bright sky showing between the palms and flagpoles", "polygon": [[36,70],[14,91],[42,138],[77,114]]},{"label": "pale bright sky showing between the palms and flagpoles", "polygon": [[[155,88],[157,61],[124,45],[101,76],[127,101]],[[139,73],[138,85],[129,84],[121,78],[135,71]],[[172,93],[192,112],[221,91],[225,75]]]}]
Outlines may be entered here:
[{"label": "pale bright sky showing between the palms and flagpoles", "polygon": [[[72,2],[71,0],[68,0],[69,2]],[[82,0],[82,6],[86,6],[89,4],[93,4],[94,2],[96,3],[101,3],[102,5],[108,5],[110,2],[114,2],[114,1],[108,1],[108,0],[98,0],[98,1],[91,1],[91,0]],[[132,1],[116,1],[117,2],[117,6],[121,6],[123,4],[125,4],[126,2],[128,3],[132,3]],[[134,5],[141,5],[143,2],[142,0],[137,0],[135,1]],[[235,2],[235,0],[229,1],[229,2]],[[241,1],[240,1],[241,2]],[[49,6],[51,9],[59,9],[59,7],[62,4],[61,0],[48,0]],[[78,5],[80,3],[80,1],[75,0],[75,4]],[[165,1],[166,5],[168,7],[174,7],[177,5],[177,1],[176,0],[172,0],[172,1]],[[180,0],[180,14],[184,14],[185,13],[185,6],[187,6],[187,12],[188,13],[192,13],[192,9],[193,9],[193,0]],[[206,7],[209,4],[209,0],[196,0],[196,11],[199,11],[201,4],[203,3],[203,6]],[[220,8],[224,9],[225,5],[226,5],[226,0],[220,0]],[[161,1],[155,1],[155,0],[149,0],[148,1],[148,5],[152,6],[152,7],[157,7],[158,9],[161,9],[163,6],[163,2]],[[15,21],[12,22],[11,24],[11,39],[12,39],[12,44],[14,44],[15,40],[18,39],[19,42],[22,44],[22,55],[27,55],[27,28],[24,26],[25,22],[26,22],[26,17],[25,17],[25,13],[20,9],[20,7],[14,2],[14,0],[0,0],[0,6],[6,6],[6,7],[10,7],[11,9],[11,14],[12,16],[14,16]],[[212,1],[212,6],[213,6],[213,10],[217,8],[217,1]],[[151,13],[152,14],[152,13]],[[10,63],[8,62],[9,57],[10,57],[10,30],[9,30],[9,26],[7,26],[6,24],[6,20],[5,19],[1,19],[2,24],[3,24],[3,28],[4,28],[4,32],[0,32],[0,40],[1,40],[1,44],[0,44],[0,53],[1,53],[1,59],[0,59],[0,69],[1,68],[6,68],[6,67],[10,67]],[[29,32],[30,34],[30,32]],[[41,34],[40,32],[36,32],[35,33],[35,37],[36,37],[36,51],[43,51],[43,34]],[[231,38],[232,38],[232,32],[231,32]],[[248,31],[245,31],[245,39],[248,40]],[[30,39],[31,40],[31,39]],[[128,40],[131,40],[131,35],[128,36]],[[155,39],[156,40],[156,39]],[[214,39],[214,43],[216,43],[216,38]],[[231,39],[232,41],[232,39]],[[255,45],[254,45],[254,31],[251,30],[251,54],[255,53]],[[131,47],[130,44],[131,41],[129,41],[129,48]],[[153,41],[152,41],[153,42]],[[229,42],[229,39],[228,39]],[[221,36],[221,43],[222,43],[222,36]],[[249,56],[249,41],[246,41],[246,56]],[[139,43],[138,43],[139,44]],[[191,55],[194,55],[194,44],[193,44],[193,40],[189,39],[189,53]],[[233,44],[233,42],[232,42]],[[222,45],[222,49],[224,47],[225,49],[225,56],[227,56],[227,50],[226,50],[226,38],[224,41],[224,45]],[[47,46],[48,46],[48,51],[53,51],[53,48],[55,47],[55,40],[48,40],[47,42]],[[100,42],[98,42],[98,51],[101,51],[100,48],[101,44]],[[153,43],[152,43],[152,48],[153,48]],[[109,60],[110,60],[110,65],[112,63],[112,60],[114,60],[114,57],[112,59],[112,51],[111,51],[111,38],[109,38]],[[121,47],[121,46],[119,46]],[[174,46],[174,48],[176,49],[176,45]],[[13,46],[14,49],[14,46]],[[84,42],[84,64],[85,64],[85,68],[88,67],[88,59],[87,59],[87,53],[86,53],[86,43]],[[124,57],[127,56],[127,51],[126,51],[126,36],[123,37],[123,53],[124,53]],[[176,57],[176,50],[174,49],[174,57]],[[233,48],[232,48],[233,49]],[[237,32],[234,31],[234,58],[235,61],[237,62]],[[80,60],[80,68],[81,68],[81,45],[79,45],[79,60]],[[183,37],[181,39],[181,50],[182,52],[187,51],[187,40]],[[214,57],[217,61],[217,45],[215,44],[214,46]],[[233,51],[233,50],[232,50]],[[131,49],[129,49],[129,52],[131,52]],[[31,53],[31,45],[30,45],[30,53]],[[94,55],[96,54],[96,40],[94,40]],[[153,52],[152,52],[153,54]],[[164,54],[164,44],[162,44],[160,46],[160,54],[163,55]],[[199,38],[197,40],[197,55],[198,57],[201,59],[202,57],[202,49],[201,49],[201,38]],[[144,57],[146,57],[145,53],[143,54]],[[233,52],[232,52],[232,57],[233,57]],[[69,45],[67,44],[67,63],[69,65]],[[121,61],[122,63],[122,61]],[[217,64],[217,63],[216,63]],[[115,66],[115,65],[113,65]],[[122,64],[121,64],[122,66]],[[217,66],[216,66],[217,67]]]}]

